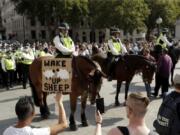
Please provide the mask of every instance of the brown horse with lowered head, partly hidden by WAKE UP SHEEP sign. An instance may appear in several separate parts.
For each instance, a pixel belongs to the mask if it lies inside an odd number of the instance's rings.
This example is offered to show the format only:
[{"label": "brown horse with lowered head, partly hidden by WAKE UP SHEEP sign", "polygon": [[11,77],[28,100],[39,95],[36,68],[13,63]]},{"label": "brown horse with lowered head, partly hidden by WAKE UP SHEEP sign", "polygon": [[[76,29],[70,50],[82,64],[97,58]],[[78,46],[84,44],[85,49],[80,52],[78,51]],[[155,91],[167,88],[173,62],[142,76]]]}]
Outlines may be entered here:
[{"label": "brown horse with lowered head, partly hidden by WAKE UP SHEEP sign", "polygon": [[[47,93],[42,90],[42,60],[47,57],[40,57],[32,63],[30,66],[30,80],[32,94],[34,102],[40,107],[40,113],[43,118],[49,116],[49,109],[47,106],[46,98]],[[49,57],[48,57],[49,58]],[[76,130],[77,126],[74,119],[74,113],[76,111],[76,102],[78,96],[81,96],[81,121],[83,126],[88,126],[85,108],[87,98],[89,96],[91,104],[95,103],[97,94],[100,91],[102,84],[103,73],[98,67],[88,58],[83,56],[74,57],[72,60],[72,87],[70,93],[70,129]]]}]

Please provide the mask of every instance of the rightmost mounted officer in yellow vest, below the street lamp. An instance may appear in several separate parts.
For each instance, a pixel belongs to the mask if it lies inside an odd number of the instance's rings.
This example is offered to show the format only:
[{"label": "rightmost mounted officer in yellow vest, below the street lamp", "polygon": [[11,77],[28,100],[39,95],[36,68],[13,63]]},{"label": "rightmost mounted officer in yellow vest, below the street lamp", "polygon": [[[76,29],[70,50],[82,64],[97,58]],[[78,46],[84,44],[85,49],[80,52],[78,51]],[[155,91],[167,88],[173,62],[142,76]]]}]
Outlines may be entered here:
[{"label": "rightmost mounted officer in yellow vest, below the street lamp", "polygon": [[156,45],[160,45],[162,49],[172,46],[172,43],[170,43],[167,39],[167,35],[166,35],[167,33],[168,33],[168,29],[164,28],[156,41]]}]

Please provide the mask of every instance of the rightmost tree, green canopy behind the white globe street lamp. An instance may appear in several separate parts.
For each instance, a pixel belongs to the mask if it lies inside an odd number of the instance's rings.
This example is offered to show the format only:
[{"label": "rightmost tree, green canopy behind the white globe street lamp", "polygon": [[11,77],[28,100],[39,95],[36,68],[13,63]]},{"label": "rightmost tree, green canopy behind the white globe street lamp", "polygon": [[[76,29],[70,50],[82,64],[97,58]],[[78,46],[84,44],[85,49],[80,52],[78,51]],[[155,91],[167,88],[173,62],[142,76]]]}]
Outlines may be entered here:
[{"label": "rightmost tree, green canopy behind the white globe street lamp", "polygon": [[173,0],[146,0],[146,3],[151,10],[151,14],[146,20],[148,30],[151,31],[156,27],[156,19],[163,19],[163,27],[174,27],[174,24],[180,15],[180,2]]}]

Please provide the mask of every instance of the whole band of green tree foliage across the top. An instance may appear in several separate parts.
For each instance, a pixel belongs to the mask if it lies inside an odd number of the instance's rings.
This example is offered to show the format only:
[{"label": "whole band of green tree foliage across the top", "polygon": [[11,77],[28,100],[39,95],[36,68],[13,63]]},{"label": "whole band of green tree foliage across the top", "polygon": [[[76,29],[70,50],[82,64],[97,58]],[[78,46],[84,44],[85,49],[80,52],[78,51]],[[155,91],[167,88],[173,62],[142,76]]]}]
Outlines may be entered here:
[{"label": "whole band of green tree foliage across the top", "polygon": [[89,19],[92,28],[117,26],[127,32],[156,27],[172,27],[180,17],[179,0],[12,0],[16,10],[28,17],[37,17],[56,24],[61,20],[75,26],[82,18]]}]

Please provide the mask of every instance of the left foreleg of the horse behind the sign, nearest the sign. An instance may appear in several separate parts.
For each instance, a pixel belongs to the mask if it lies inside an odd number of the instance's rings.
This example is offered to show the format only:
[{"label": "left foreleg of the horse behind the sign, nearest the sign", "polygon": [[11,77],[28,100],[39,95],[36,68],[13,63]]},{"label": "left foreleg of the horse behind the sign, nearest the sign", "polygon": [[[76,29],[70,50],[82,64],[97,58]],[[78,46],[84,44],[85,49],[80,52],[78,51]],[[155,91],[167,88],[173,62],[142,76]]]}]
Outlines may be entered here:
[{"label": "left foreleg of the horse behind the sign, nearest the sign", "polygon": [[77,130],[76,122],[74,120],[74,113],[76,111],[76,102],[77,102],[77,95],[74,93],[70,94],[70,105],[71,105],[71,114],[69,117],[69,127],[71,130]]}]

